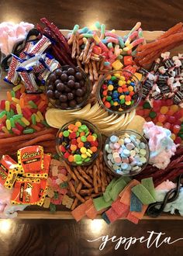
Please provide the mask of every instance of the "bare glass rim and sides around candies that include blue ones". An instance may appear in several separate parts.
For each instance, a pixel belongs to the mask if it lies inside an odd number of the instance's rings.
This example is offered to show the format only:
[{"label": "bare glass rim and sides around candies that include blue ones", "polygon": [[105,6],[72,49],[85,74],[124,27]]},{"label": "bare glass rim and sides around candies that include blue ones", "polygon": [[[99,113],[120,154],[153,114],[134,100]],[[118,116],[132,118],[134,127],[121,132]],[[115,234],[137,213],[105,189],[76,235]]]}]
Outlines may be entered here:
[{"label": "bare glass rim and sides around candies that include blue ones", "polygon": [[[135,83],[134,91],[133,91],[133,92],[135,92],[135,94],[133,95],[134,103],[131,106],[125,106],[125,108],[123,106],[122,111],[115,110],[114,107],[113,107],[113,109],[109,109],[108,107],[106,107],[104,105],[104,102],[102,102],[102,96],[101,96],[102,85],[105,84],[106,80],[110,80],[108,78],[110,78],[110,76],[112,77],[112,75],[114,75],[114,74],[120,74],[121,76],[124,76],[125,78],[127,78],[126,80],[132,80]],[[141,82],[139,81],[139,79],[136,78],[136,76],[129,71],[120,71],[120,70],[109,71],[109,73],[105,74],[101,78],[101,80],[98,82],[97,98],[98,98],[98,102],[100,103],[100,105],[104,109],[106,109],[108,112],[110,112],[112,114],[123,115],[126,112],[131,112],[133,109],[136,109],[136,106],[138,106],[138,104],[140,103],[140,100],[142,99],[142,85],[141,85]]]}]

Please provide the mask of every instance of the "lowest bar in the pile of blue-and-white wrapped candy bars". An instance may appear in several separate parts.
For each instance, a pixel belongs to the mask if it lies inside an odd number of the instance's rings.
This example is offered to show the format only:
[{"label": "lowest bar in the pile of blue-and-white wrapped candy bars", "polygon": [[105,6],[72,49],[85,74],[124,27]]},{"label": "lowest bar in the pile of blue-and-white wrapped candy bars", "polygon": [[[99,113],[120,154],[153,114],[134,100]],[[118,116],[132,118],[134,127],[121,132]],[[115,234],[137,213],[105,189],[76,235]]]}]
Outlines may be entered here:
[{"label": "lowest bar in the pile of blue-and-white wrapped candy bars", "polygon": [[26,93],[40,93],[42,92],[36,84],[36,77],[33,74],[33,68],[30,67],[28,70],[25,67],[19,67],[17,69],[20,77],[26,87]]}]

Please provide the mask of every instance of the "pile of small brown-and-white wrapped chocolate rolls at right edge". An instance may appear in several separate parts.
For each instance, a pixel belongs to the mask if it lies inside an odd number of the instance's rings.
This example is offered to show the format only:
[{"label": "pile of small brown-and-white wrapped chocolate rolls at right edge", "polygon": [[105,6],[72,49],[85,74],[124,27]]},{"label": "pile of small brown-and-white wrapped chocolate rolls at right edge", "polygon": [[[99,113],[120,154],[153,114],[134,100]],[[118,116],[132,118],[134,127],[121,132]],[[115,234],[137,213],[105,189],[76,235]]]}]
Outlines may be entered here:
[{"label": "pile of small brown-and-white wrapped chocolate rolls at right edge", "polygon": [[170,53],[161,54],[150,72],[141,68],[143,79],[143,99],[153,104],[156,99],[173,99],[175,105],[183,103],[183,57],[182,54],[170,57]]}]

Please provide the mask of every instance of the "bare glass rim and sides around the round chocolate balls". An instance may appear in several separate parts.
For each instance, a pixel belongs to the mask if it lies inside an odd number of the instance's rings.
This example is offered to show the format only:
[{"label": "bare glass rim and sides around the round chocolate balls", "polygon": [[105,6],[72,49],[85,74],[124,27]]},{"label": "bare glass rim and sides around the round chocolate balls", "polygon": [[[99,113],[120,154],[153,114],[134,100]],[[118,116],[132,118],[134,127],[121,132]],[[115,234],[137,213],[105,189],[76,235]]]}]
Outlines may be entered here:
[{"label": "bare glass rim and sides around the round chocolate balls", "polygon": [[[71,66],[62,66],[62,67],[59,67],[57,69],[55,69],[53,72],[51,72],[47,78],[47,81],[46,81],[46,92],[49,90],[49,85],[52,85],[52,81],[50,81],[50,76],[52,74],[55,74],[55,72],[57,72],[58,70],[61,70],[61,71],[67,71],[67,69],[71,67]],[[89,81],[88,79],[88,76],[85,74],[85,72],[83,72],[79,67],[72,67],[74,68],[74,71],[75,72],[80,72],[82,74],[82,80],[85,81],[85,88],[86,88],[86,92],[85,94],[82,96],[83,100],[82,102],[80,103],[77,103],[76,106],[74,107],[71,107],[71,106],[67,106],[67,107],[62,107],[60,106],[60,99],[52,99],[50,98],[49,96],[47,96],[47,98],[49,99],[50,103],[57,109],[63,109],[63,110],[71,110],[71,109],[81,109],[81,107],[85,106],[88,102],[88,99],[90,97],[90,93],[91,93],[91,82]],[[57,74],[56,74],[57,75]],[[57,75],[57,79],[59,79],[59,75]],[[63,81],[60,81],[60,82],[63,82]],[[55,86],[55,85],[54,85]],[[83,86],[84,87],[84,86]],[[71,89],[71,88],[70,88]],[[55,89],[54,89],[54,92],[55,92]],[[71,90],[71,92],[73,92]],[[61,93],[60,93],[61,94]],[[76,95],[74,95],[74,99],[76,99]]]}]

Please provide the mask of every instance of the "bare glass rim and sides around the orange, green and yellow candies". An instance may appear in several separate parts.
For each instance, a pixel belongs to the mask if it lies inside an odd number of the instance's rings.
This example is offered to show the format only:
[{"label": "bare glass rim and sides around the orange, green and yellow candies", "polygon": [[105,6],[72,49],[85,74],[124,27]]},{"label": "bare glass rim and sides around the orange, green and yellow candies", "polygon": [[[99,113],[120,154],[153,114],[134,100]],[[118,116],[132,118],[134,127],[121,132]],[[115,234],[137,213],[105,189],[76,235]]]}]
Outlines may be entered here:
[{"label": "bare glass rim and sides around the orange, green and yellow candies", "polygon": [[[95,134],[97,135],[97,140],[98,140],[97,151],[92,154],[92,157],[90,158],[89,161],[83,161],[82,164],[77,164],[77,163],[74,162],[74,161],[73,161],[73,162],[68,161],[67,158],[64,157],[63,152],[61,152],[61,151],[60,151],[60,148],[59,148],[59,146],[60,146],[60,144],[61,144],[59,134],[60,134],[60,133],[63,133],[64,130],[67,130],[67,127],[68,127],[70,124],[74,124],[74,123],[76,123],[76,122],[81,122],[82,124],[85,124],[85,125],[88,127],[88,129],[89,129],[92,133],[95,133]],[[71,140],[70,140],[70,141],[71,141]],[[67,164],[69,164],[69,165],[78,166],[78,165],[89,165],[89,164],[91,164],[91,163],[95,160],[95,158],[98,157],[98,154],[99,154],[101,148],[102,148],[102,135],[101,135],[101,133],[98,131],[98,128],[97,128],[96,126],[94,126],[92,123],[89,123],[89,122],[86,121],[86,120],[83,120],[83,119],[75,119],[75,120],[73,120],[73,121],[71,121],[71,122],[69,122],[69,123],[64,124],[64,126],[62,126],[62,127],[60,128],[60,130],[57,132],[57,137],[56,137],[56,149],[57,149],[57,153],[58,153],[58,154],[60,155],[60,157],[61,157],[64,161],[66,161]]]}]

